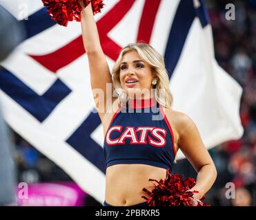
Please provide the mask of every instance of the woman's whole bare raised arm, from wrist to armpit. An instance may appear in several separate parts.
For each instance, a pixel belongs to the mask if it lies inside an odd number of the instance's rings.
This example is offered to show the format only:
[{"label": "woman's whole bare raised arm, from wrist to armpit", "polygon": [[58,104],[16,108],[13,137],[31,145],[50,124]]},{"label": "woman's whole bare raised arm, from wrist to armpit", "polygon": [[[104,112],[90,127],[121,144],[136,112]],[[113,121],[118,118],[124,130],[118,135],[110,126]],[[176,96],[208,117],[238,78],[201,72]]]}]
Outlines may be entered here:
[{"label": "woman's whole bare raised arm, from wrist to armpit", "polygon": [[[111,94],[110,97],[106,94],[106,84],[112,84],[112,78],[105,54],[99,41],[99,34],[93,17],[92,5],[90,3],[85,8],[82,0],[79,0],[79,3],[83,8],[81,12],[81,32],[83,36],[83,46],[88,55],[90,83],[95,98],[96,108],[102,121],[106,113],[106,103],[112,103]],[[101,95],[99,95],[99,90],[101,91]]]}]

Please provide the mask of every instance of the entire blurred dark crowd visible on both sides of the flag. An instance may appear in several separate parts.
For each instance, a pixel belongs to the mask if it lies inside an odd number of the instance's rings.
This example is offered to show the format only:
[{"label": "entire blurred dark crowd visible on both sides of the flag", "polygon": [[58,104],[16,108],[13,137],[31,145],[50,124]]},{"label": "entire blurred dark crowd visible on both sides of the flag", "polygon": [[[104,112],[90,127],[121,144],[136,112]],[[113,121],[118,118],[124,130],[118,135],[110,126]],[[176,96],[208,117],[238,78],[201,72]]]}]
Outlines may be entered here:
[{"label": "entire blurred dark crowd visible on both sides of the flag", "polygon": [[[213,27],[215,57],[219,65],[243,87],[240,115],[244,135],[210,149],[218,171],[217,180],[206,195],[212,206],[256,205],[256,1],[233,1],[235,21],[226,20],[225,5],[230,1],[206,1]],[[57,165],[12,132],[18,181],[71,181]],[[186,161],[178,161],[174,172],[196,177]],[[234,185],[226,185],[233,183]],[[235,186],[235,199],[232,186]],[[230,188],[231,187],[231,188]],[[229,197],[227,196],[229,195]],[[88,197],[87,206],[97,205]]]}]

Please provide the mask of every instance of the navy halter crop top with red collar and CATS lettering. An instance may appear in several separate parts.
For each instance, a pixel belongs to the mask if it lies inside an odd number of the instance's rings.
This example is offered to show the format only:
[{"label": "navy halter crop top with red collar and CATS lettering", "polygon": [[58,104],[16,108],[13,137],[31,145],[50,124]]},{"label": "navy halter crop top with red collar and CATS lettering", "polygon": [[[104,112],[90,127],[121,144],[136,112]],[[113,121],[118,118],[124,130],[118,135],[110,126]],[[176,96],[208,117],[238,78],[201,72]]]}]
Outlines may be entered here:
[{"label": "navy halter crop top with red collar and CATS lettering", "polygon": [[176,155],[173,131],[155,98],[130,99],[117,110],[105,135],[104,154],[106,168],[148,164],[172,170]]}]

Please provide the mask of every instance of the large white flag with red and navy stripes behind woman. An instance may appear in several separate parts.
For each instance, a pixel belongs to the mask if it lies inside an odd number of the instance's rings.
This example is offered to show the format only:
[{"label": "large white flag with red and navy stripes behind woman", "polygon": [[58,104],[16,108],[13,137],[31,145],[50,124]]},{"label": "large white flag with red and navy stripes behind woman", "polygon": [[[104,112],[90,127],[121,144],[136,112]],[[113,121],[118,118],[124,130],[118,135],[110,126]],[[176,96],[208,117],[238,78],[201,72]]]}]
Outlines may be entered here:
[{"label": "large white flag with red and navy stripes behind woman", "polygon": [[[242,88],[215,61],[204,1],[104,2],[95,21],[110,68],[121,47],[150,43],[164,55],[173,109],[193,119],[206,147],[242,136]],[[103,203],[104,135],[99,116],[93,113],[80,23],[57,25],[40,0],[0,3],[27,32],[26,40],[1,63],[0,98],[6,121]],[[179,151],[177,159],[183,157]]]}]

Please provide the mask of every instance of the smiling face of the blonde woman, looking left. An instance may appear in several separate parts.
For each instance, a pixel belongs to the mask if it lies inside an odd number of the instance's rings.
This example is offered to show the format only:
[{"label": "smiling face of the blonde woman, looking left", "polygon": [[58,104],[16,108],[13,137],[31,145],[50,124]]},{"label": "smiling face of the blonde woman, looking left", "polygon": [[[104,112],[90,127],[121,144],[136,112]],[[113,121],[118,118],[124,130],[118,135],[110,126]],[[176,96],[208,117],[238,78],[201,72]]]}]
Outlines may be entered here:
[{"label": "smiling face of the blonde woman, looking left", "polygon": [[150,98],[153,78],[150,65],[136,51],[124,55],[119,79],[129,98]]}]

